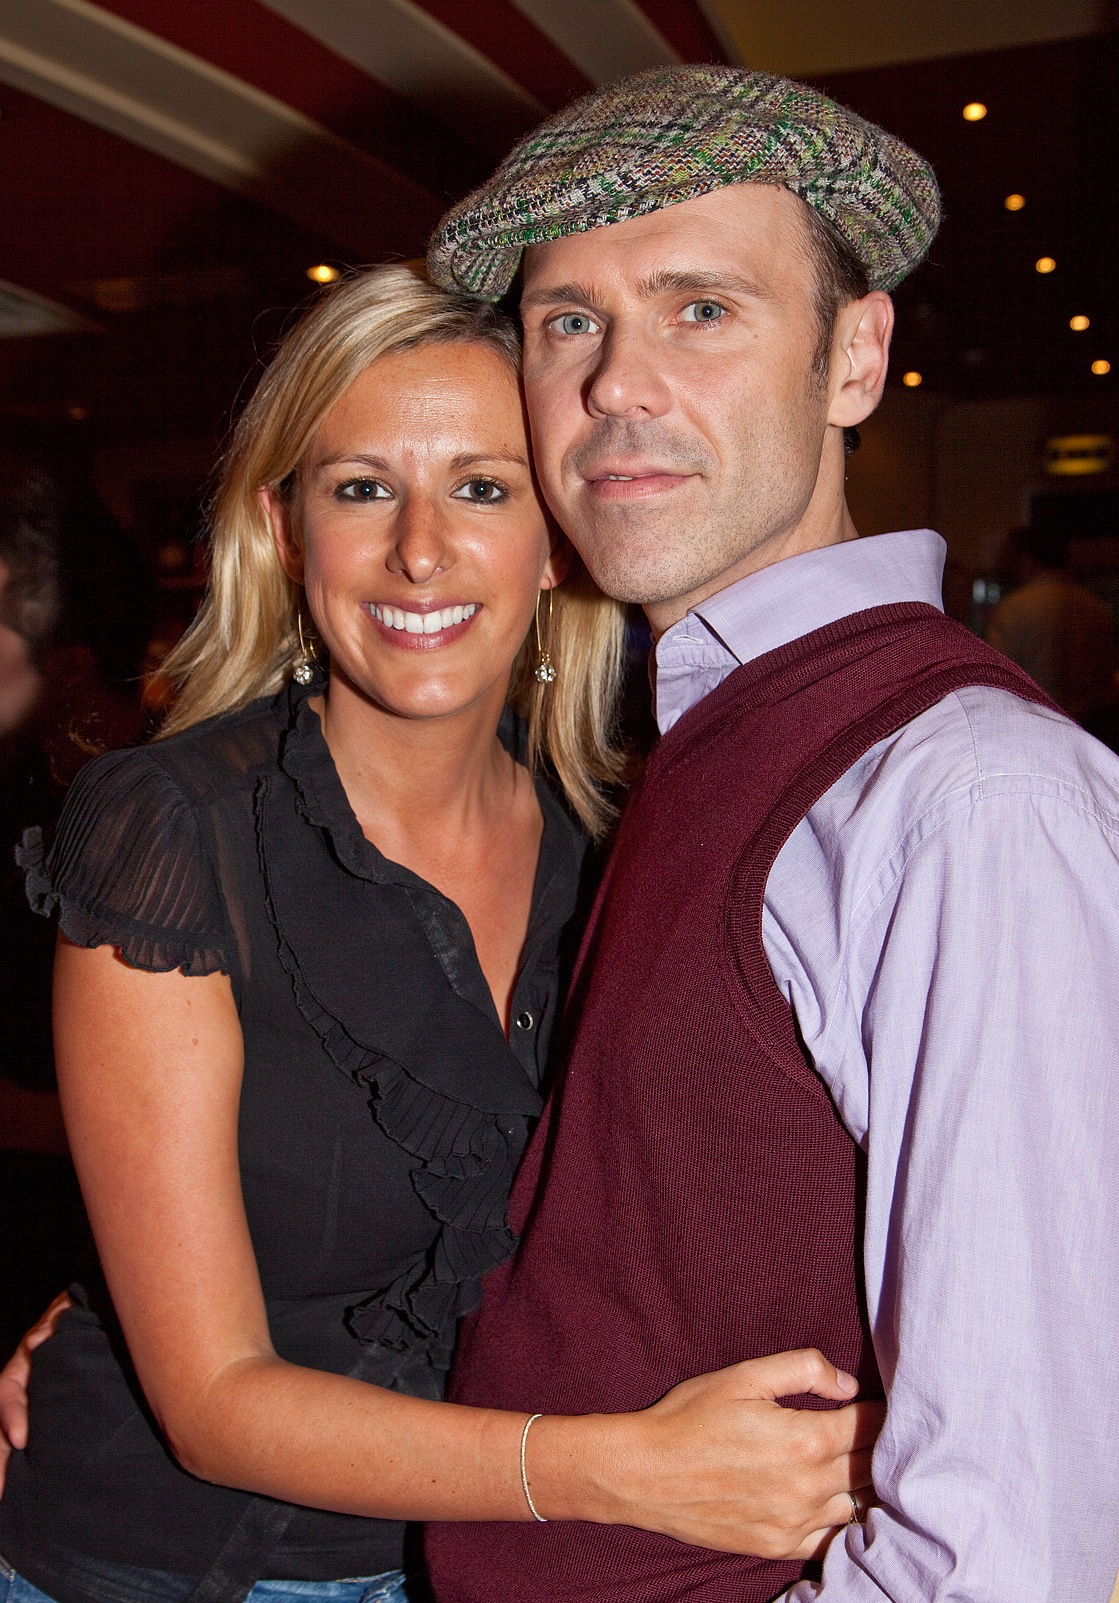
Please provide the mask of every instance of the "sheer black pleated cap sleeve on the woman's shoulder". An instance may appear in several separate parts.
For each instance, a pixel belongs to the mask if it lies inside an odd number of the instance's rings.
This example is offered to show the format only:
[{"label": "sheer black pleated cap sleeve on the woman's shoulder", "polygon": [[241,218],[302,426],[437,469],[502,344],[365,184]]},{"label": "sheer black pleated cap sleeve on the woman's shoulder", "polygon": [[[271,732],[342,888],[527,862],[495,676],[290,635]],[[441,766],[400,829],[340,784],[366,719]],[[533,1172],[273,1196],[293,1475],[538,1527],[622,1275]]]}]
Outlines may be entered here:
[{"label": "sheer black pleated cap sleeve on the woman's shoulder", "polygon": [[58,907],[77,946],[115,946],[133,968],[229,973],[229,935],[199,821],[147,750],[111,752],[71,785],[50,851],[16,850],[35,912]]}]

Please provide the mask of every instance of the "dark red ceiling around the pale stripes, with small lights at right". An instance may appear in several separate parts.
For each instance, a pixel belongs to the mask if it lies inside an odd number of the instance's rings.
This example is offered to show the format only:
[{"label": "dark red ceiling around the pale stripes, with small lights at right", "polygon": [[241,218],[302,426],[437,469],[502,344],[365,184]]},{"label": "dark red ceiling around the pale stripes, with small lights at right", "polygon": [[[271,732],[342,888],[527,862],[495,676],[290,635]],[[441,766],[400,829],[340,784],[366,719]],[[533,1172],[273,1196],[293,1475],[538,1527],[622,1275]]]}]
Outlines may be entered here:
[{"label": "dark red ceiling around the pale stripes, with small lights at right", "polygon": [[[293,106],[430,196],[430,215],[361,220],[366,260],[420,253],[426,226],[500,154],[370,79],[255,0],[106,0],[106,10]],[[426,10],[545,106],[587,88],[507,0]],[[718,46],[696,5],[644,0],[691,59]],[[1119,375],[1114,194],[1119,35],[830,77],[826,88],[909,138],[938,168],[946,221],[899,297],[896,372],[951,394],[1100,394]],[[967,123],[967,101],[989,106]],[[0,85],[0,277],[90,313],[101,332],[0,343],[11,449],[58,454],[144,438],[218,438],[234,396],[319,260],[353,260],[309,232],[80,117]],[[1020,191],[1026,208],[1008,213]],[[391,245],[388,244],[391,240]],[[1048,277],[1032,269],[1056,258]],[[91,289],[143,281],[136,308]],[[1092,319],[1074,335],[1068,319]],[[1089,370],[1106,353],[1116,372]],[[74,410],[85,417],[74,418]]]}]

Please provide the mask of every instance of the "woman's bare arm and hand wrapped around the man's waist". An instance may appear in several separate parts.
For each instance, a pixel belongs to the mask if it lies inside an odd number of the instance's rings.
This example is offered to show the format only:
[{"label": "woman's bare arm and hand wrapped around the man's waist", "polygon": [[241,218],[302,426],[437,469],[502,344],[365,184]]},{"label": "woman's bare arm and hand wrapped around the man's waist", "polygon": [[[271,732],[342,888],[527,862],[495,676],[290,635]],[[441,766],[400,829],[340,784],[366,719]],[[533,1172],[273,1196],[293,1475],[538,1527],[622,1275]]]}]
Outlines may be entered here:
[{"label": "woman's bare arm and hand wrapped around the man's waist", "polygon": [[[74,1162],[147,1401],[205,1480],[345,1513],[526,1520],[524,1414],[401,1396],[273,1350],[237,1167],[242,1040],[229,981],[127,967],[61,941],[55,1036]],[[739,1364],[628,1415],[529,1438],[542,1513],[683,1540],[808,1550],[869,1481],[880,1409],[819,1355]],[[854,1449],[854,1451],[853,1451]],[[853,1456],[848,1457],[848,1454]]]}]

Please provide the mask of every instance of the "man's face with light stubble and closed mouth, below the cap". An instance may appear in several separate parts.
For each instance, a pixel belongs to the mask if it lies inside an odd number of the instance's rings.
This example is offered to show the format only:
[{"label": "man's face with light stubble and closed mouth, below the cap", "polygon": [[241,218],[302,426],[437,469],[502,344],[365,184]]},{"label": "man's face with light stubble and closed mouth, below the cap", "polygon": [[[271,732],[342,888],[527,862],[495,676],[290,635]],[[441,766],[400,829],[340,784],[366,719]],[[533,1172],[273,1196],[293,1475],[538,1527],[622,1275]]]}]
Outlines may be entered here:
[{"label": "man's face with light stubble and closed mouth, below the cap", "polygon": [[526,253],[543,492],[598,583],[654,627],[803,548],[826,439],[842,499],[814,287],[806,208],[763,184]]}]

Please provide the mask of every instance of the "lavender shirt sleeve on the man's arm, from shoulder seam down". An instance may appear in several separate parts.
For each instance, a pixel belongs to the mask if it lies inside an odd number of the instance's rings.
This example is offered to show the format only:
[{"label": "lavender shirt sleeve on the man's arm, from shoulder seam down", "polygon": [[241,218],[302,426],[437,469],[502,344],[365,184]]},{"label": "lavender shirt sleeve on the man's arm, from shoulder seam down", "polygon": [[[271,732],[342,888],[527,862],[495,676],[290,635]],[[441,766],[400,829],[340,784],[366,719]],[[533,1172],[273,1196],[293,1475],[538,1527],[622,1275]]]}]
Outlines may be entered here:
[{"label": "lavender shirt sleeve on the man's arm, from shoulder seam down", "polygon": [[1119,1568],[1119,842],[947,810],[851,933],[882,1507],[789,1603],[1106,1603]]}]

